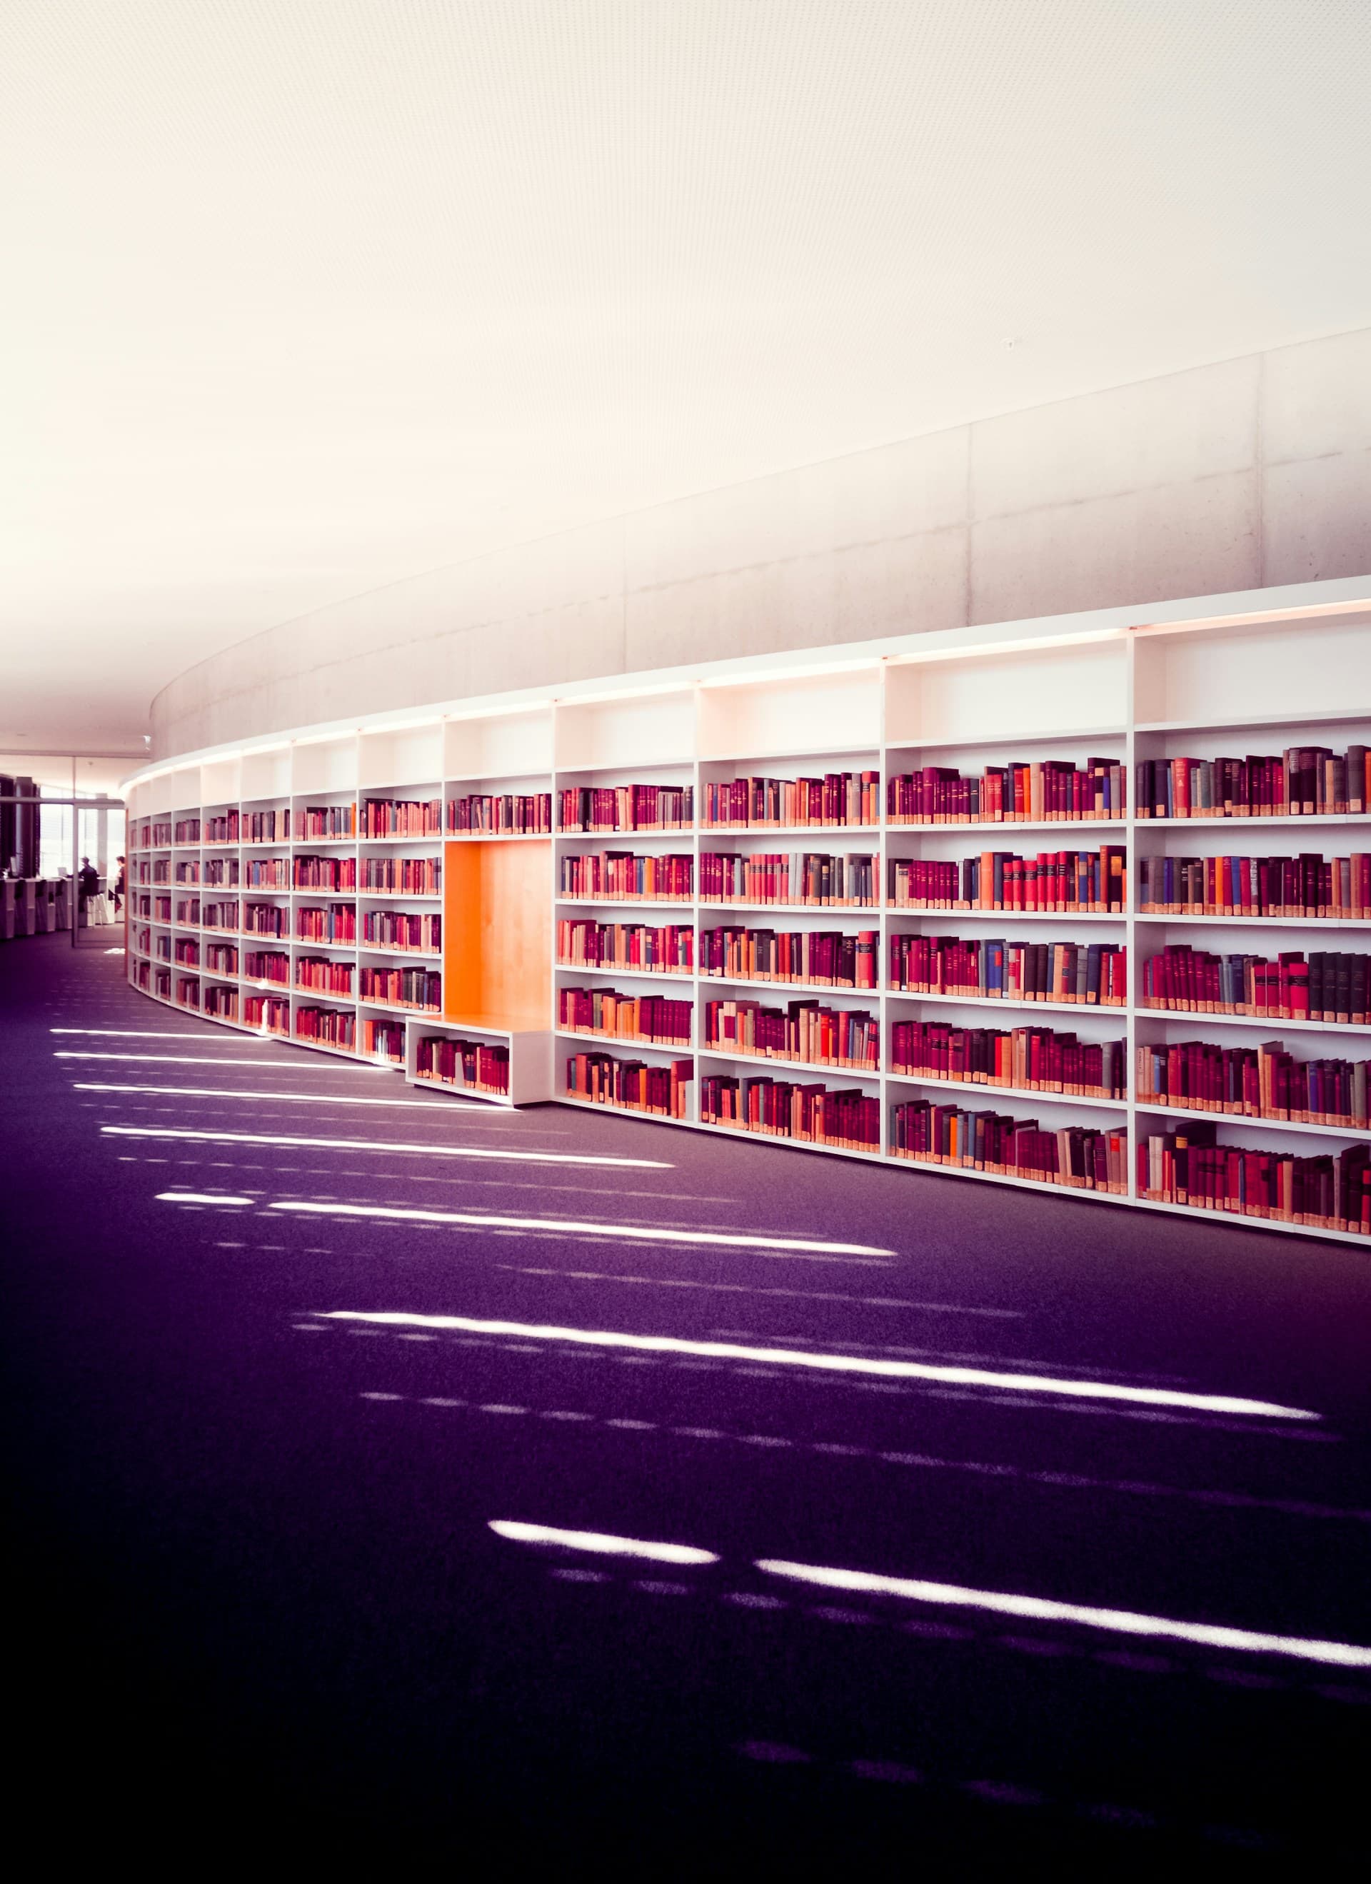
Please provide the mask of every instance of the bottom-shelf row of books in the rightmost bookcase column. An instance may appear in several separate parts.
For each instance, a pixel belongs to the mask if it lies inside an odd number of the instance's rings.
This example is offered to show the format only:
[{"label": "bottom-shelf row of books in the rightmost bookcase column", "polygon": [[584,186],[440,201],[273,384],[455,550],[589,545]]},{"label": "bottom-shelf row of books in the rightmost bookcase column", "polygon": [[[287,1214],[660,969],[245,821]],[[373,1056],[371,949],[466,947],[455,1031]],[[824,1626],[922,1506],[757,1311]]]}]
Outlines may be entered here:
[{"label": "bottom-shelf row of books in the rightmost bookcase column", "polygon": [[1137,1145],[1137,1191],[1156,1204],[1371,1236],[1371,1145],[1311,1157],[1256,1151],[1220,1145],[1200,1119]]}]

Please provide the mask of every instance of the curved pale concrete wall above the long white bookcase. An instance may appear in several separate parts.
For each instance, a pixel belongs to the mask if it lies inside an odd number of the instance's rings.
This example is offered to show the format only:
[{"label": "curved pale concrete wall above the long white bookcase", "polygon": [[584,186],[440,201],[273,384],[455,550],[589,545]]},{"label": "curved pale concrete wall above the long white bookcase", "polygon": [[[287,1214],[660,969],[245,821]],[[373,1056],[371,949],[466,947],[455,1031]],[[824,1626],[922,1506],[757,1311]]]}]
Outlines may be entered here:
[{"label": "curved pale concrete wall above the long white bookcase", "polygon": [[1371,328],[977,420],[458,563],[254,635],[156,757],[313,720],[1371,573]]}]

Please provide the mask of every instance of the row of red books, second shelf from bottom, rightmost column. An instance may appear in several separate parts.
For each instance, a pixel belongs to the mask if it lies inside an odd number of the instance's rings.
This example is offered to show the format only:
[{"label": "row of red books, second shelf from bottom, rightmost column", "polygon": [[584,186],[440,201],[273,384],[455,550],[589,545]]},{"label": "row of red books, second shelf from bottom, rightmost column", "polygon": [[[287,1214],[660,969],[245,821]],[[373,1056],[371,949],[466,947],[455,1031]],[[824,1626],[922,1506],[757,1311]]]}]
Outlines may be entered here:
[{"label": "row of red books, second shelf from bottom, rightmost column", "polygon": [[1301,1061],[1279,1040],[1258,1048],[1171,1040],[1137,1048],[1136,1066],[1139,1100],[1296,1125],[1371,1123],[1371,1061]]}]

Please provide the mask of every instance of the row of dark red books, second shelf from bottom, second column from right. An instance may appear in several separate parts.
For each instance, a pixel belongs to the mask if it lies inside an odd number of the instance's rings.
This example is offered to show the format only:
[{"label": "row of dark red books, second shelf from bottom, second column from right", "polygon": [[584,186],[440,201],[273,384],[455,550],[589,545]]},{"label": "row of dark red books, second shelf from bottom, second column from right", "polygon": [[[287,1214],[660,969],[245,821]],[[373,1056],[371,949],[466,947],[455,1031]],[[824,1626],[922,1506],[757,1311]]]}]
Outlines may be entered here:
[{"label": "row of dark red books, second shelf from bottom, second column from right", "polygon": [[1128,1068],[1124,1040],[1077,1040],[1051,1027],[951,1027],[945,1021],[895,1021],[891,1072],[970,1085],[1013,1085],[1021,1091],[1122,1098]]}]

